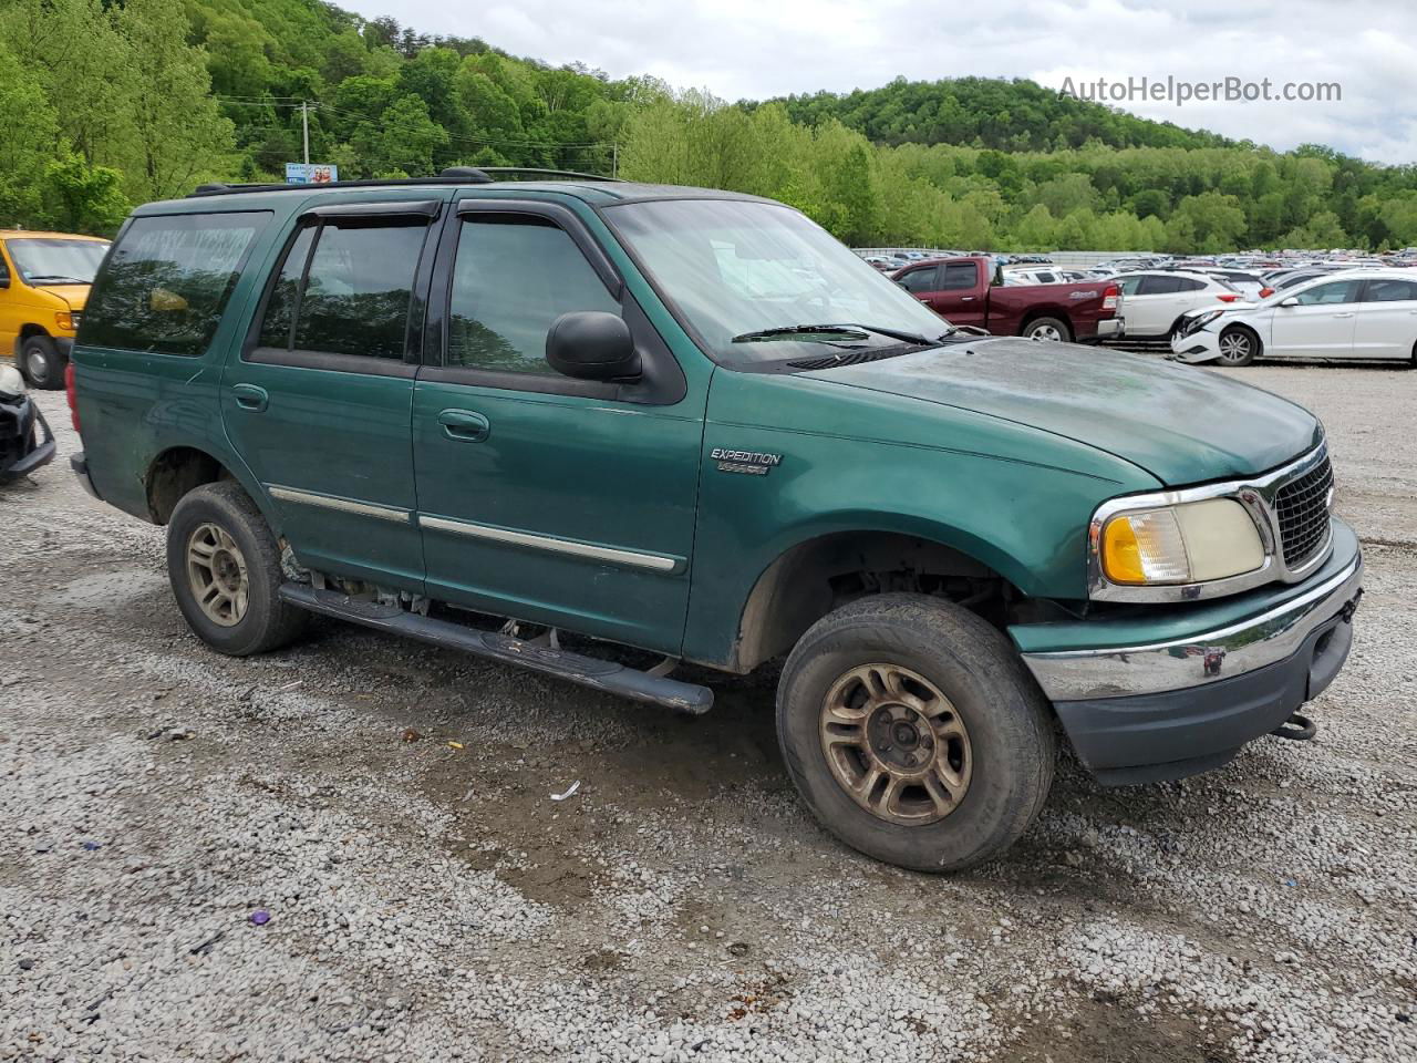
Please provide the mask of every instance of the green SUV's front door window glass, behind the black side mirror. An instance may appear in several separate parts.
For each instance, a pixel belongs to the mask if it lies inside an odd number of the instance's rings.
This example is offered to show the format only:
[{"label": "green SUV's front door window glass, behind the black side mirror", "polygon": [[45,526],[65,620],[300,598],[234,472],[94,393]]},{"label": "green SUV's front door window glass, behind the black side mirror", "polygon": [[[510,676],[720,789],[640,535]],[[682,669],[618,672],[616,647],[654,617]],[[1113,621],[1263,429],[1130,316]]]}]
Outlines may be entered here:
[{"label": "green SUV's front door window glass, behind the black side mirror", "polygon": [[619,313],[560,225],[533,215],[463,218],[452,271],[448,366],[554,374],[546,334],[563,313]]}]

